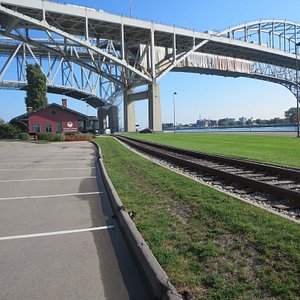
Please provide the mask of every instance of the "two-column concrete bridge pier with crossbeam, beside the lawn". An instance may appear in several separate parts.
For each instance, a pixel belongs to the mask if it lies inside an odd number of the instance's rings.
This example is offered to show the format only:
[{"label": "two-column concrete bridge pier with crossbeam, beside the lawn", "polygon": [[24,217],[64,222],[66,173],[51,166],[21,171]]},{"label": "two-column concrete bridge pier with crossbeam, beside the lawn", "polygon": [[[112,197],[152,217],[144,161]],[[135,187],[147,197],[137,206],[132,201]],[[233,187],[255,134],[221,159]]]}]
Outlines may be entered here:
[{"label": "two-column concrete bridge pier with crossbeam, beside the lawn", "polygon": [[133,93],[132,90],[124,92],[124,130],[135,132],[135,110],[134,102],[148,100],[148,128],[153,131],[162,131],[161,109],[160,109],[160,90],[157,83],[148,85],[148,90]]}]

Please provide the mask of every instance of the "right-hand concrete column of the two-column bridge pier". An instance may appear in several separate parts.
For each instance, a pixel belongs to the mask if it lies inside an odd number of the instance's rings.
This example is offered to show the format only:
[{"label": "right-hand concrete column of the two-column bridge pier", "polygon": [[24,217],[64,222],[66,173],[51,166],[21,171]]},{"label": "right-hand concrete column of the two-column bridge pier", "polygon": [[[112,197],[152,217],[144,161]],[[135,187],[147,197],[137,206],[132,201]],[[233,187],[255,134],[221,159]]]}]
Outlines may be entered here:
[{"label": "right-hand concrete column of the two-column bridge pier", "polygon": [[153,131],[162,131],[158,83],[148,85],[148,101],[149,128]]}]

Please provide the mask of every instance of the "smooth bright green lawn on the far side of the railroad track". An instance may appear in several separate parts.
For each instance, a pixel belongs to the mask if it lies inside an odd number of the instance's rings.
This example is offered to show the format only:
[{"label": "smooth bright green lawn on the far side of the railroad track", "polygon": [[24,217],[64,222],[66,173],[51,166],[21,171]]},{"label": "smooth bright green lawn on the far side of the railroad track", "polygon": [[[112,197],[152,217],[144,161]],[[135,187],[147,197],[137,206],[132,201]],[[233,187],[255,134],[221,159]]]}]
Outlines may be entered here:
[{"label": "smooth bright green lawn on the far side of the railroad track", "polygon": [[132,134],[162,144],[300,168],[300,139],[246,134]]}]

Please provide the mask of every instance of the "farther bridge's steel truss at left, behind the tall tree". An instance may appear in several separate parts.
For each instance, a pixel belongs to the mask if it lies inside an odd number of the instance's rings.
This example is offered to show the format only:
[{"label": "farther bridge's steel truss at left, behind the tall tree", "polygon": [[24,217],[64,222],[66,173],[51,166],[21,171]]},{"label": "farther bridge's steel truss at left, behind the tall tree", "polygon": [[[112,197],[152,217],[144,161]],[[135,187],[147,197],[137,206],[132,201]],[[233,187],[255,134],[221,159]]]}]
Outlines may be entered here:
[{"label": "farther bridge's steel truss at left, behind the tall tree", "polygon": [[[107,45],[107,47],[110,47]],[[74,51],[72,48],[70,51]],[[76,49],[75,49],[76,51]],[[79,56],[77,52],[76,55]],[[55,52],[41,52],[27,43],[0,37],[0,87],[26,90],[26,65],[37,63],[47,78],[48,92],[80,99],[93,107],[111,103],[115,84],[84,62],[75,64]]]}]

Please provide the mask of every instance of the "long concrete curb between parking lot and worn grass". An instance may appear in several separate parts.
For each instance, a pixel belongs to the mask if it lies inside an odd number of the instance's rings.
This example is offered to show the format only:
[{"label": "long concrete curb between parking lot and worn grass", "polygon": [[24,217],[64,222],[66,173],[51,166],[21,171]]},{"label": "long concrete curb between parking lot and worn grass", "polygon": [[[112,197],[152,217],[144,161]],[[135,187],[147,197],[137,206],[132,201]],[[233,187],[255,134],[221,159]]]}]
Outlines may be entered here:
[{"label": "long concrete curb between parking lot and worn grass", "polygon": [[101,175],[103,178],[113,212],[129,249],[133,253],[137,265],[148,285],[152,298],[157,300],[182,300],[182,297],[171,284],[167,274],[162,269],[128,213],[125,211],[124,205],[105,170],[100,147],[96,143],[92,143],[97,149],[97,177]]}]

